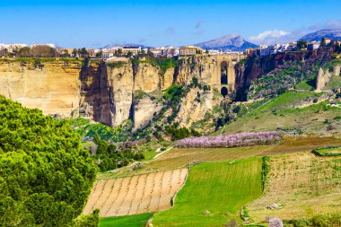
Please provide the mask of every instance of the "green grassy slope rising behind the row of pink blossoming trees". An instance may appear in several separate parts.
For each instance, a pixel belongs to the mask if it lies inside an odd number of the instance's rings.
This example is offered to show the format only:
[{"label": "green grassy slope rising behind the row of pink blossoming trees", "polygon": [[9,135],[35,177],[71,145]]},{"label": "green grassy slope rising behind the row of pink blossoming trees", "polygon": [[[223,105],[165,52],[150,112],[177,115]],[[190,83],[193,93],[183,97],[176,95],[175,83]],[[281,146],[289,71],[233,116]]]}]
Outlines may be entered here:
[{"label": "green grassy slope rising behind the row of pink blossoming trees", "polygon": [[[327,102],[310,105],[305,108],[288,108],[288,105],[300,103],[319,94],[314,92],[285,92],[249,114],[237,119],[223,128],[218,134],[235,134],[275,130],[277,127],[301,128],[303,132],[325,130],[326,119],[333,121],[341,115],[340,108],[330,108]],[[337,121],[340,127],[340,121]]]}]

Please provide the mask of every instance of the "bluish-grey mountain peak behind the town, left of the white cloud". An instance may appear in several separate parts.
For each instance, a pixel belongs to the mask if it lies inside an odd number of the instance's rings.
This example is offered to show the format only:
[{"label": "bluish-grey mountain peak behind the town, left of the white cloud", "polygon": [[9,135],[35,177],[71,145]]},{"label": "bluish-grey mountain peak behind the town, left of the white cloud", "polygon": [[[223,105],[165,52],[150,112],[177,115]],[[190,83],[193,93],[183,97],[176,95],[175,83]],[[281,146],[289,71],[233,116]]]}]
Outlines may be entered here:
[{"label": "bluish-grey mountain peak behind the town, left of the white cloud", "polygon": [[197,43],[194,46],[204,49],[216,49],[223,51],[243,51],[246,48],[257,48],[256,44],[250,43],[239,35],[226,35],[218,39]]}]

